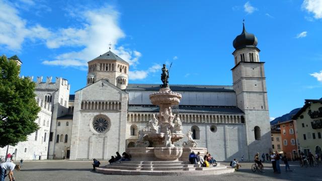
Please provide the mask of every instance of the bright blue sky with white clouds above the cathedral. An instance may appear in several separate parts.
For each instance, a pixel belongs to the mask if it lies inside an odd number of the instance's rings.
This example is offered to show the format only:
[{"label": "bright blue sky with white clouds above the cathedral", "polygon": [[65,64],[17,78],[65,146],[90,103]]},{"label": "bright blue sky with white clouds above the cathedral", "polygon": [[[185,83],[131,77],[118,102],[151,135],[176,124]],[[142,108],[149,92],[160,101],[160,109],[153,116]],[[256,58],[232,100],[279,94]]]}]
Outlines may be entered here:
[{"label": "bright blue sky with white clouds above the cathedral", "polygon": [[86,85],[87,62],[109,50],[129,62],[129,83],[232,85],[233,39],[258,38],[271,119],[322,97],[322,0],[0,0],[0,54],[21,75]]}]

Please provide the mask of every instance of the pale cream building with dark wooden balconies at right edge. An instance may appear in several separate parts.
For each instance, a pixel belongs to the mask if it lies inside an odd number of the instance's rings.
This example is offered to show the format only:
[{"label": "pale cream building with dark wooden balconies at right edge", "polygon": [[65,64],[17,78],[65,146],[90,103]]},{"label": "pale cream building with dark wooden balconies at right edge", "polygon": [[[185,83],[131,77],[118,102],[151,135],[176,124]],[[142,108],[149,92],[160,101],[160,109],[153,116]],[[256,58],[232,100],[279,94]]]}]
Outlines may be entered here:
[{"label": "pale cream building with dark wooden balconies at right edge", "polygon": [[305,105],[293,116],[297,125],[298,151],[321,155],[322,98],[305,100]]}]

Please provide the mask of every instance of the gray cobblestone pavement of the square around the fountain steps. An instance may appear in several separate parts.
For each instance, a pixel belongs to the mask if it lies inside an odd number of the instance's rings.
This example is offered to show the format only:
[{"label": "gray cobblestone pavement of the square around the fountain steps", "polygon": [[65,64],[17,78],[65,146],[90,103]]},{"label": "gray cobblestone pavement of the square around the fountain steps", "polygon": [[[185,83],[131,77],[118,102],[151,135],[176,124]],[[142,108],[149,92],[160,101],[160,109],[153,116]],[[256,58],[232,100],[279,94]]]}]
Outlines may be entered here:
[{"label": "gray cobblestone pavement of the square around the fountain steps", "polygon": [[[101,161],[101,165],[107,161]],[[221,163],[228,165],[229,163]],[[322,164],[319,167],[301,168],[298,162],[290,162],[292,172],[285,172],[284,164],[281,164],[281,174],[275,174],[272,165],[264,163],[265,173],[253,173],[253,163],[241,163],[240,171],[222,175],[205,176],[147,176],[147,175],[106,175],[92,170],[91,161],[24,161],[20,171],[15,170],[14,176],[17,181],[45,181],[45,180],[322,180]],[[8,178],[7,178],[8,180]]]}]

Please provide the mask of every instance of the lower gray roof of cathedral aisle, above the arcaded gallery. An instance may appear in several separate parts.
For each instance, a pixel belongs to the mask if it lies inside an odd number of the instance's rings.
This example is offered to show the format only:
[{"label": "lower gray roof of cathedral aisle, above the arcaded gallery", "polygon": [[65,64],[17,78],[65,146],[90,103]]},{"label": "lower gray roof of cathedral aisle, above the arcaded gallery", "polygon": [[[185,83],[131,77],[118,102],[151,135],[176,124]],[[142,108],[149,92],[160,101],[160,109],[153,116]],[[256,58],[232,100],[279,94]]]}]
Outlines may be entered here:
[{"label": "lower gray roof of cathedral aisle, above the arcaded gallery", "polygon": [[[159,107],[154,105],[129,105],[128,112],[159,112]],[[179,106],[179,113],[201,114],[244,114],[237,107],[223,106]]]}]

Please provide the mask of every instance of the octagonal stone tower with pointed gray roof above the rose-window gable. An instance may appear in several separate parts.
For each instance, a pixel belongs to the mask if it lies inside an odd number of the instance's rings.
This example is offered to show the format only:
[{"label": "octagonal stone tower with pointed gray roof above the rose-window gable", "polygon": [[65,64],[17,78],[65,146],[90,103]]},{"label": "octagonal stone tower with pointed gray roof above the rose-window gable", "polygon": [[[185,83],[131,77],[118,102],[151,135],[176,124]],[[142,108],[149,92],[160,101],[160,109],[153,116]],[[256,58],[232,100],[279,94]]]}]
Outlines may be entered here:
[{"label": "octagonal stone tower with pointed gray roof above the rose-window gable", "polygon": [[87,85],[102,78],[125,89],[128,84],[129,63],[108,51],[88,62]]}]

